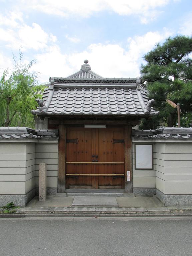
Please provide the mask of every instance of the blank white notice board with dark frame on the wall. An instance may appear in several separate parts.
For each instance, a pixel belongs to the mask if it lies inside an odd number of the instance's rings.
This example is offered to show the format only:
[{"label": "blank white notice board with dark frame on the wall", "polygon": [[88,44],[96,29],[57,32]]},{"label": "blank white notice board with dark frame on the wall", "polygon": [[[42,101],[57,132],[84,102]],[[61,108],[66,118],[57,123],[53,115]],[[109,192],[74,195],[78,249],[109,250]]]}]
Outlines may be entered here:
[{"label": "blank white notice board with dark frame on the wall", "polygon": [[135,169],[153,169],[153,145],[135,145]]}]

